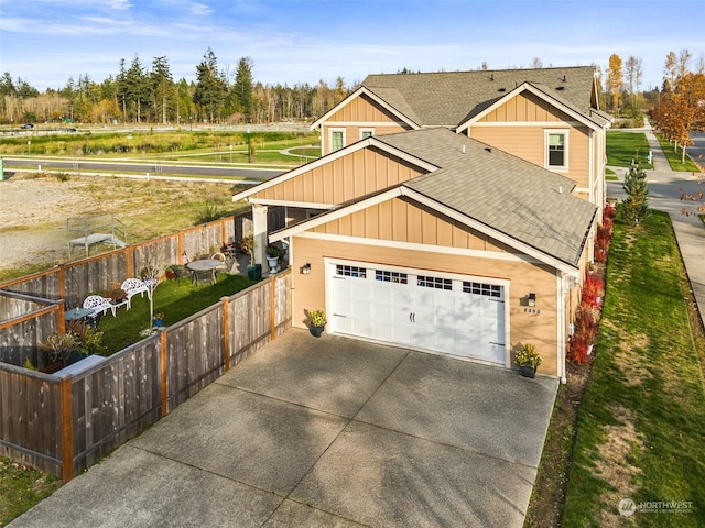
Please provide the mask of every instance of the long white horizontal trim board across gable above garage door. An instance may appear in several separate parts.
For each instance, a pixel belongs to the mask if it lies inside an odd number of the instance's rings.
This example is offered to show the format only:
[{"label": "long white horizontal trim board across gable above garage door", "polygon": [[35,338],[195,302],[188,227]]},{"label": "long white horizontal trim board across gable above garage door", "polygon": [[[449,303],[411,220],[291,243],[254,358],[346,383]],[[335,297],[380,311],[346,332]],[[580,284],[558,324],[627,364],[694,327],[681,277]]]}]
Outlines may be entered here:
[{"label": "long white horizontal trim board across gable above garage door", "polygon": [[[276,238],[270,238],[270,242],[276,242],[280,233],[275,233]],[[344,242],[346,244],[373,245],[376,248],[394,248],[398,250],[423,251],[426,253],[440,253],[443,255],[470,256],[474,258],[489,258],[492,261],[506,262],[525,262],[530,264],[540,264],[541,262],[532,256],[522,253],[506,253],[502,251],[485,251],[485,250],[467,250],[462,248],[451,248],[446,245],[420,244],[416,242],[399,242],[386,239],[366,239],[360,237],[351,237],[349,234],[332,234],[316,233],[312,231],[303,231],[295,237],[302,239],[325,240],[326,242]],[[399,266],[395,266],[399,267]]]}]

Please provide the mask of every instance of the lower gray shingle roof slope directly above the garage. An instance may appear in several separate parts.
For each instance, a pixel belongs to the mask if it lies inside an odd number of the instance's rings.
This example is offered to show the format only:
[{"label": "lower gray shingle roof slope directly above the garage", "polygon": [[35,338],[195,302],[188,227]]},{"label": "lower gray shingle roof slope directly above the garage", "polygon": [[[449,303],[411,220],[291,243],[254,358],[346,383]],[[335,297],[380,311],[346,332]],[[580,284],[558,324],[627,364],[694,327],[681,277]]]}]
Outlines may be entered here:
[{"label": "lower gray shingle roof slope directly above the garage", "polygon": [[571,194],[573,180],[445,128],[375,139],[441,167],[405,187],[564,263],[579,264],[597,208]]}]

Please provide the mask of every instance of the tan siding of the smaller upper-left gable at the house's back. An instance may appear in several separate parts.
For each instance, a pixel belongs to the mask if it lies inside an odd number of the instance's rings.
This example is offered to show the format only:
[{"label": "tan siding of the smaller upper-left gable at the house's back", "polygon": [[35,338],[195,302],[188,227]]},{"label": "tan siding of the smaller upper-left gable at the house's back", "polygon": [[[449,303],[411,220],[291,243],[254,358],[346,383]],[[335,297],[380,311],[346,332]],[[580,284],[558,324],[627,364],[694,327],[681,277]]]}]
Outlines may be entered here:
[{"label": "tan siding of the smaller upper-left gable at the house's back", "polygon": [[345,145],[360,140],[360,130],[375,130],[375,134],[391,134],[410,130],[402,127],[399,120],[387,109],[375,102],[368,96],[352,99],[335,112],[322,127],[321,147],[323,154],[330,152],[330,129],[345,129]]}]

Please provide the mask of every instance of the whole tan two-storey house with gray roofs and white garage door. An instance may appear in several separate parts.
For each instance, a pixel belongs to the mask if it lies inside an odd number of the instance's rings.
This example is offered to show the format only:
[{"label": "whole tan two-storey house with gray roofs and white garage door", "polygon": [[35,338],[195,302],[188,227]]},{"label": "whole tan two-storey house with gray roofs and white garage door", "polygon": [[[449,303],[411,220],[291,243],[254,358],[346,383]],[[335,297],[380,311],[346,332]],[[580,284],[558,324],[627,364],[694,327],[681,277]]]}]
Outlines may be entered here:
[{"label": "whole tan two-storey house with gray roofs and white garage door", "polygon": [[368,77],[314,123],[323,157],[234,196],[259,262],[289,243],[294,324],[323,308],[328,332],[502,367],[531,342],[564,378],[605,200],[596,90],[593,68]]}]

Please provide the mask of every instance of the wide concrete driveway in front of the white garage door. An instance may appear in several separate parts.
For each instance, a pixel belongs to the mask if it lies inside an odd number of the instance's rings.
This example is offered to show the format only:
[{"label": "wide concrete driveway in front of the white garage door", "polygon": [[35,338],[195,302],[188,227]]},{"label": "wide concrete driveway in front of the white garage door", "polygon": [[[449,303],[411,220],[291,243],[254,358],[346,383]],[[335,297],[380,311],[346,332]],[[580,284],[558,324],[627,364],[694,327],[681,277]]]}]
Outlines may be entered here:
[{"label": "wide concrete driveway in front of the white garage door", "polygon": [[556,380],[292,329],[17,527],[521,527]]}]

